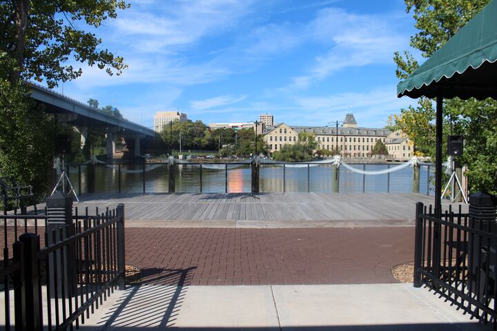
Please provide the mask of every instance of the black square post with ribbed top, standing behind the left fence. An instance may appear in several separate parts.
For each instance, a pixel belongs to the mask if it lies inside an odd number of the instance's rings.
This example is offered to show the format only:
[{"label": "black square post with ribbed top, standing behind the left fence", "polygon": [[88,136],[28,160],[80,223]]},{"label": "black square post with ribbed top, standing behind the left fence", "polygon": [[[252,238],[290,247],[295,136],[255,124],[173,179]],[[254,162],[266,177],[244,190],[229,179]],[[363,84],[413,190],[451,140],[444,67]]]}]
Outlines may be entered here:
[{"label": "black square post with ribbed top, standing behind the left fence", "polygon": [[[52,197],[46,199],[47,207],[47,226],[46,233],[48,234],[48,245],[53,245],[57,243],[59,239],[64,240],[68,237],[75,235],[76,229],[74,223],[72,223],[72,197],[69,197],[66,193],[55,192]],[[52,236],[53,231],[59,232],[62,229],[62,237],[59,237],[58,233],[56,240]],[[54,268],[53,255],[55,254],[57,259],[57,270]],[[63,261],[64,259],[64,261]],[[75,261],[76,261],[76,248],[75,245],[68,245],[65,248],[61,248],[56,252],[50,253],[48,268],[50,274],[61,275],[64,272],[64,277],[58,277],[57,284],[50,283],[50,289],[55,290],[57,287],[57,292],[68,294],[72,296],[74,293],[74,277],[72,275],[75,273]],[[64,270],[61,266],[64,265]],[[61,279],[65,279],[64,288],[62,288]]]}]

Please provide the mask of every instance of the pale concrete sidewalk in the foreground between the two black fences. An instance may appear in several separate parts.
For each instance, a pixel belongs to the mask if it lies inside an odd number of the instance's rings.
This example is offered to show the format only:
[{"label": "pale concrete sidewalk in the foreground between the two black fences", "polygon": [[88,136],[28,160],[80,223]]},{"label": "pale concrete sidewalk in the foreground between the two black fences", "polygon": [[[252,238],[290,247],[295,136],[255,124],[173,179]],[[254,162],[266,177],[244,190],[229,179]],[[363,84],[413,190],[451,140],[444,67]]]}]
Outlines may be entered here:
[{"label": "pale concrete sidewalk in the foreground between the two black fences", "polygon": [[164,286],[117,292],[81,325],[137,330],[491,330],[411,284]]}]

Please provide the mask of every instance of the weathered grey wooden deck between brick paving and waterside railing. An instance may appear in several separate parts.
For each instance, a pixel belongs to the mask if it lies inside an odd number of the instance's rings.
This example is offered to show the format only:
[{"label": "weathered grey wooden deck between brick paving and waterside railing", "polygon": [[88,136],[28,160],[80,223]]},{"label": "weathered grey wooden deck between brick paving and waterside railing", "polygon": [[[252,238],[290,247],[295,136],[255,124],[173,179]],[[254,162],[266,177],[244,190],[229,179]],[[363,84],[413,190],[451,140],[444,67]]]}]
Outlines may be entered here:
[{"label": "weathered grey wooden deck between brick paving and waterside railing", "polygon": [[[424,194],[265,193],[246,194],[85,194],[81,213],[124,203],[127,226],[308,228],[413,225],[416,202]],[[449,203],[443,203],[448,208]],[[462,205],[463,211],[467,206]]]}]

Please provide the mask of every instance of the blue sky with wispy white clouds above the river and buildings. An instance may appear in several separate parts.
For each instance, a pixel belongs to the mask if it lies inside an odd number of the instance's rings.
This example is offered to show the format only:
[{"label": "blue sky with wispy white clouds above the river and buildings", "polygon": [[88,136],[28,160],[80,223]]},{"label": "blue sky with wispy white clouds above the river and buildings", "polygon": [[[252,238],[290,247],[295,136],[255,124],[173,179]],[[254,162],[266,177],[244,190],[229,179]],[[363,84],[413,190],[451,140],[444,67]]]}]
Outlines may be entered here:
[{"label": "blue sky with wispy white clouds above the river and buildings", "polygon": [[96,31],[129,68],[108,77],[83,66],[59,92],[148,127],[165,110],[204,123],[269,113],[303,126],[353,112],[360,126],[382,127],[415,103],[396,97],[393,52],[409,49],[415,32],[402,0],[130,3]]}]

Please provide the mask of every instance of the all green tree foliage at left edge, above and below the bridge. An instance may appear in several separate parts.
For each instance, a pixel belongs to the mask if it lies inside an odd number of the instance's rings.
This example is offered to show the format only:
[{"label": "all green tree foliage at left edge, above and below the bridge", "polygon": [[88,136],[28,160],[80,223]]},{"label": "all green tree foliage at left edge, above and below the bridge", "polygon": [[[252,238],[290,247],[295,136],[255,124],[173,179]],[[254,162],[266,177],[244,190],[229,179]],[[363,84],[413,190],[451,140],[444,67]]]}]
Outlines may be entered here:
[{"label": "all green tree foliage at left edge, above and below the bridge", "polygon": [[35,105],[21,79],[53,88],[79,77],[78,63],[121,73],[123,59],[102,47],[93,31],[127,7],[116,0],[0,1],[1,176],[34,185],[38,196],[47,192],[54,179],[55,134],[74,131]]}]

